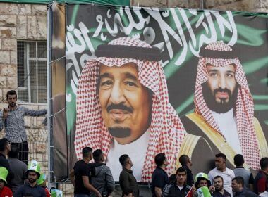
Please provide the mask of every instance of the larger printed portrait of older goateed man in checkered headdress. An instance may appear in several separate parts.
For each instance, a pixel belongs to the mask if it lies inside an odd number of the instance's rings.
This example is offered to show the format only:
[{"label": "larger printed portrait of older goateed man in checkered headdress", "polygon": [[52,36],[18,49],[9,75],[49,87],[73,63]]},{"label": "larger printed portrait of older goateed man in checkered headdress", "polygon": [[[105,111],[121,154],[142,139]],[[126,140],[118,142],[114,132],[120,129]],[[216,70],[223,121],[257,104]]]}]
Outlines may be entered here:
[{"label": "larger printed portrait of older goateed man in checkered headdress", "polygon": [[165,153],[168,174],[175,172],[179,155],[197,158],[199,146],[213,158],[207,141],[186,134],[169,103],[159,49],[120,37],[98,46],[95,55],[78,81],[74,142],[78,159],[84,146],[102,149],[118,180],[118,158],[128,154],[136,179],[150,182],[157,153]]}]

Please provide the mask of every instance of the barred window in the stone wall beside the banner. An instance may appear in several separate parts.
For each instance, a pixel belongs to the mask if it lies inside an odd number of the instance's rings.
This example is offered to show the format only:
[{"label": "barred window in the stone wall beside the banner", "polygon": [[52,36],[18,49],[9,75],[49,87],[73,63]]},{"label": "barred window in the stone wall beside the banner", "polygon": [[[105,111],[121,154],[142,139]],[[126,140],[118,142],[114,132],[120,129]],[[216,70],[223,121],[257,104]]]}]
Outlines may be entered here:
[{"label": "barred window in the stone wall beside the banner", "polygon": [[18,99],[47,103],[46,42],[18,41]]}]

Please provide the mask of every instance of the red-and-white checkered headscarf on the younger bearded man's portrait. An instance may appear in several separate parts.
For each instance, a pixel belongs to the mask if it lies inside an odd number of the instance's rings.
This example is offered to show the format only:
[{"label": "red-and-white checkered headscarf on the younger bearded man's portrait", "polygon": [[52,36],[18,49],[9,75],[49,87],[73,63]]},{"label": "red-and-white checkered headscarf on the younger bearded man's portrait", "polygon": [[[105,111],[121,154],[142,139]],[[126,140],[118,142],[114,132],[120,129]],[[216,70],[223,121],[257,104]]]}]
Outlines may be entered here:
[{"label": "red-and-white checkered headscarf on the younger bearded man's portrait", "polygon": [[[205,49],[212,51],[233,51],[231,47],[224,42],[213,42],[205,46]],[[248,88],[248,82],[245,77],[243,67],[238,58],[211,58],[200,56],[197,66],[197,77],[195,82],[195,113],[202,115],[205,120],[216,129],[220,134],[221,131],[209,110],[207,103],[205,103],[201,84],[207,82],[208,73],[206,65],[207,63],[214,66],[225,66],[230,64],[236,65],[235,79],[240,85],[238,88],[238,96],[236,100],[236,123],[238,130],[238,137],[242,148],[245,162],[255,170],[259,169],[260,152],[257,144],[257,137],[253,126],[254,116],[254,103],[253,98]]]}]

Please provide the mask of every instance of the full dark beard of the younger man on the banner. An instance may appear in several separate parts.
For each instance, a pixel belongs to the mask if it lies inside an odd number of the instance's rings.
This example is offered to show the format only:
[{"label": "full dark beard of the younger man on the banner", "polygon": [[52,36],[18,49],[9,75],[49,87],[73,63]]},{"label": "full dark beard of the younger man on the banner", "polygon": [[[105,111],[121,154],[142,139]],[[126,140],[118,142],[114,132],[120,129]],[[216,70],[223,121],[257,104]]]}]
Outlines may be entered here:
[{"label": "full dark beard of the younger man on the banner", "polygon": [[[221,98],[221,103],[218,103],[215,98],[215,94],[217,91],[226,92],[229,95],[229,101],[226,102],[226,98]],[[233,90],[233,95],[231,95],[231,91],[229,89],[215,89],[214,93],[212,94],[211,90],[209,89],[207,82],[202,84],[202,93],[207,103],[207,106],[210,110],[217,112],[217,113],[226,113],[227,111],[231,110],[236,106],[236,98],[238,95],[238,84],[236,84],[236,88]]]}]

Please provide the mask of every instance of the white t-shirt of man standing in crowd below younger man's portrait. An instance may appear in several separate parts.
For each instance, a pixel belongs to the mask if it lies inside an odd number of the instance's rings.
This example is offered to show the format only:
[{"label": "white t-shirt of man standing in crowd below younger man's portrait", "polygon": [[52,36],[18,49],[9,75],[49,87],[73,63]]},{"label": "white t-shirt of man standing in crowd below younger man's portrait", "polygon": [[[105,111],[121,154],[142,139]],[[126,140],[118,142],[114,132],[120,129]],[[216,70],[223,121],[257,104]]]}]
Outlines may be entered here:
[{"label": "white t-shirt of man standing in crowd below younger man's portrait", "polygon": [[231,194],[231,196],[233,196],[233,190],[231,187],[232,179],[235,177],[233,170],[226,167],[226,170],[224,172],[221,172],[217,170],[217,168],[215,167],[213,170],[209,171],[208,176],[212,184],[213,184],[214,177],[221,176],[224,179],[224,189],[228,191]]}]

